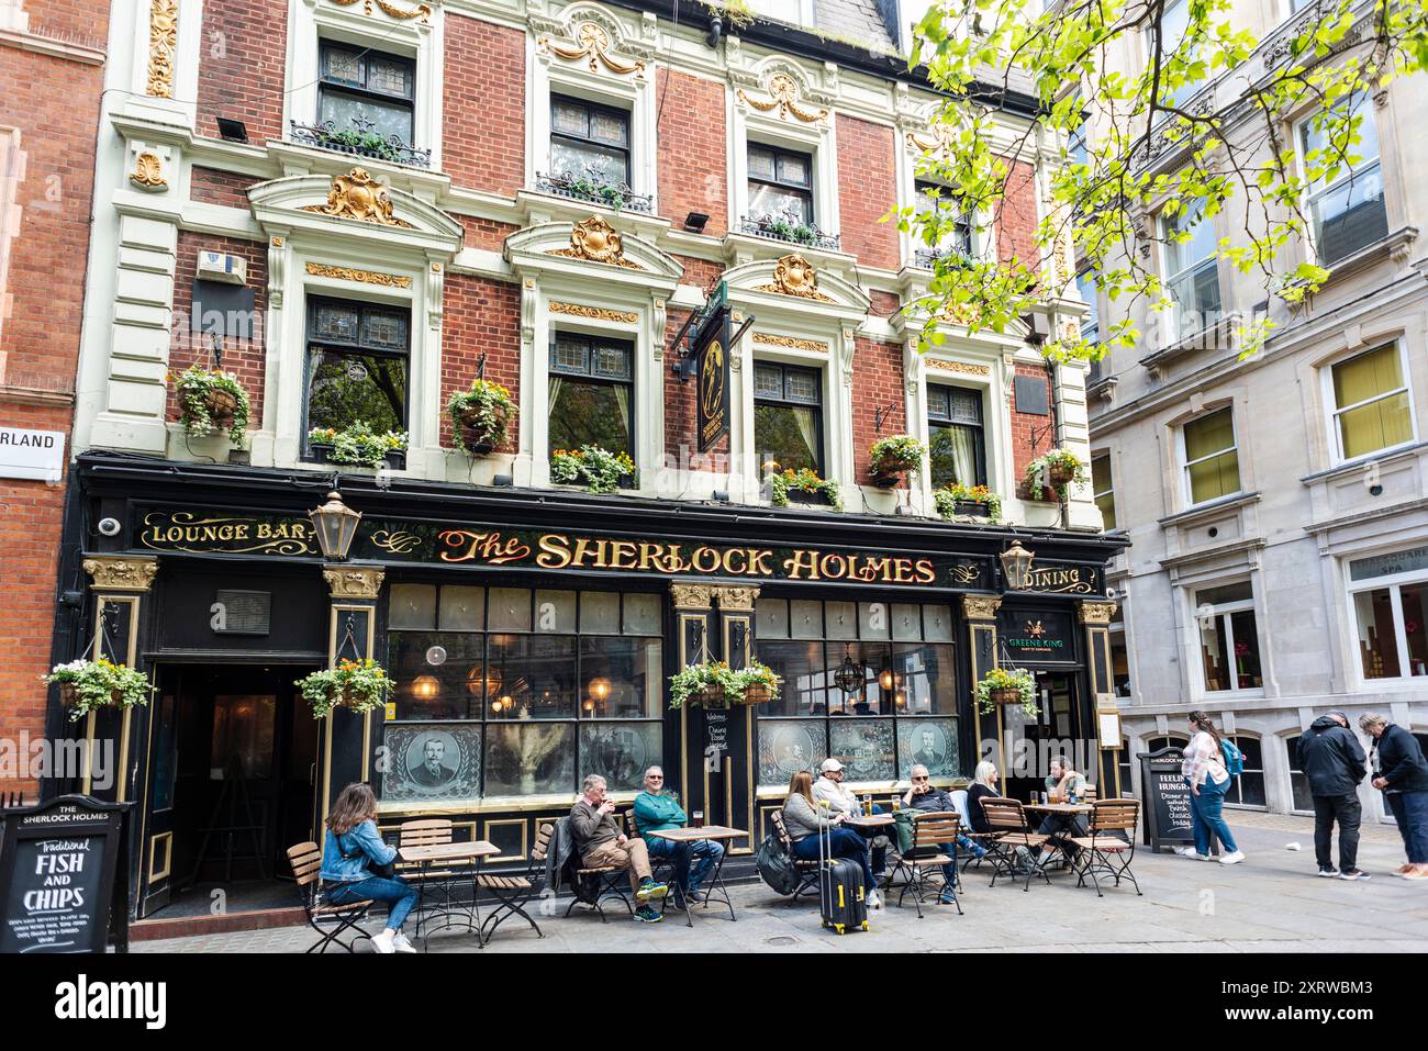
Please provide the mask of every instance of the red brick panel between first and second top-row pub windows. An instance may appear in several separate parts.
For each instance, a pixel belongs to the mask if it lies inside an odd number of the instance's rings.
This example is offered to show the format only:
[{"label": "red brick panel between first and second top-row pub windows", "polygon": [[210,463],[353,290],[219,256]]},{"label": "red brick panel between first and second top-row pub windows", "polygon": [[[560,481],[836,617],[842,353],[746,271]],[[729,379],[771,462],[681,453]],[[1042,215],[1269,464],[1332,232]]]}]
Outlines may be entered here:
[{"label": "red brick panel between first and second top-row pub windows", "polygon": [[511,197],[526,181],[526,34],[446,20],[443,161],[456,186]]}]

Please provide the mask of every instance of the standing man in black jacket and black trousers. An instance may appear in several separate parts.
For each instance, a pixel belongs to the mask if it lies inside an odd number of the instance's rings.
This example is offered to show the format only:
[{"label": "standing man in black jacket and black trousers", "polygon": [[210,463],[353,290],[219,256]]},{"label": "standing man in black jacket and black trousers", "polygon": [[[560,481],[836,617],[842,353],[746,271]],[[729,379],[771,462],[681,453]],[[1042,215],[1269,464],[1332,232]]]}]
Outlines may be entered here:
[{"label": "standing man in black jacket and black trousers", "polygon": [[[1331,711],[1314,720],[1299,737],[1297,758],[1314,795],[1314,855],[1319,875],[1367,880],[1368,873],[1358,867],[1358,823],[1364,815],[1358,783],[1364,780],[1367,757],[1348,728],[1348,715]],[[1329,860],[1334,821],[1339,825],[1338,868]]]}]

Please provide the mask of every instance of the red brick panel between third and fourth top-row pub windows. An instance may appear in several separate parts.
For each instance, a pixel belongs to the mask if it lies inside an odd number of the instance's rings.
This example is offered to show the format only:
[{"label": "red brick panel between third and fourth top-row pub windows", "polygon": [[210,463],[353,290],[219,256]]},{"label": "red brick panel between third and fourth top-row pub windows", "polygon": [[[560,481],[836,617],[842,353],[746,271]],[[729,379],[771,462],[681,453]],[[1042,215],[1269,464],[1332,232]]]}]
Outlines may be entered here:
[{"label": "red brick panel between third and fourth top-row pub windows", "polygon": [[892,129],[838,114],[838,211],[843,250],[867,267],[897,270],[895,223],[880,223],[897,206]]}]

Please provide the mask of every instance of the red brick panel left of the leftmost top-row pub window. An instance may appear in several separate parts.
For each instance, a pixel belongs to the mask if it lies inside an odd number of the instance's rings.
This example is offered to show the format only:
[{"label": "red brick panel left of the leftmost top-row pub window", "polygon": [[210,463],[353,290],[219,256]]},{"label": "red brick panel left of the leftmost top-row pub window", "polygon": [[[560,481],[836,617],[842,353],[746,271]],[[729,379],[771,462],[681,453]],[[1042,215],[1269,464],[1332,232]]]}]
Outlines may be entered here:
[{"label": "red brick panel left of the leftmost top-row pub window", "polygon": [[198,134],[217,139],[214,117],[231,117],[250,141],[281,139],[287,0],[204,4],[201,47]]}]

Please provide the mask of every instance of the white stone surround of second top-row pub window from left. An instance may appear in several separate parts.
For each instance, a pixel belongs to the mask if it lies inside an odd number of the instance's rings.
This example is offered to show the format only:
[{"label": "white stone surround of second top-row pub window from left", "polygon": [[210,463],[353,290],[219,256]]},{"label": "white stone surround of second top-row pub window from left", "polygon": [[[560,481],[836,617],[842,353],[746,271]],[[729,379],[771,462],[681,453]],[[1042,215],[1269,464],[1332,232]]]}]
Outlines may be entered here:
[{"label": "white stone surround of second top-row pub window from left", "polygon": [[[585,21],[594,21],[605,30],[611,40],[607,54],[617,61],[621,64],[643,61],[641,47],[635,47],[634,54],[625,50],[634,41],[635,30],[613,17],[608,10],[594,4],[573,4],[561,11],[567,36],[578,33],[578,27]],[[591,70],[590,59],[563,59],[548,44],[541,46],[541,40],[547,36],[554,44],[570,43],[540,31],[527,36],[526,187],[536,186],[537,174],[558,174],[551,164],[550,100],[553,94],[565,94],[630,114],[630,188],[637,194],[648,194],[653,201],[650,214],[660,214],[655,161],[658,96],[654,90],[654,66],[645,63],[643,70],[617,73],[597,59],[595,70]]]}]

